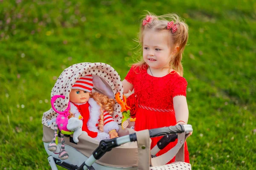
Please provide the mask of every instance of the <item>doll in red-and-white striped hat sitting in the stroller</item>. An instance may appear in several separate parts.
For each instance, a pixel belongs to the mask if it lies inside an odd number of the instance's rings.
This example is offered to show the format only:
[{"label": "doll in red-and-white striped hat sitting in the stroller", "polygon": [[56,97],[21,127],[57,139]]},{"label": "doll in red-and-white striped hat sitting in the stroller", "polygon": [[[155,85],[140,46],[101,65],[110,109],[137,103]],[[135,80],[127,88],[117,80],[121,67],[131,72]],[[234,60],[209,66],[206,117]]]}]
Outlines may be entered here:
[{"label": "doll in red-and-white striped hat sitting in the stroller", "polygon": [[83,117],[82,130],[88,136],[101,141],[118,137],[118,124],[113,120],[114,99],[92,93],[93,76],[78,79],[70,91],[70,112]]}]

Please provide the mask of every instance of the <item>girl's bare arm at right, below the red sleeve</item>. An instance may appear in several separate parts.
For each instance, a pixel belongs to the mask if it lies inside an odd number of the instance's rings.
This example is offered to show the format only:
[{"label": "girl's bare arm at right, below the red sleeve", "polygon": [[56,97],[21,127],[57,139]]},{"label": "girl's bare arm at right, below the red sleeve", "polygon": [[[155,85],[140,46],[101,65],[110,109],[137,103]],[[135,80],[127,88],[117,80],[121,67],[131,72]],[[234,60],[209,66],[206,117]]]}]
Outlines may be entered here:
[{"label": "girl's bare arm at right, below the red sleeve", "polygon": [[175,96],[173,98],[173,107],[175,111],[176,122],[182,121],[179,122],[181,125],[183,124],[183,122],[187,124],[189,119],[189,108],[186,102],[186,97]]}]

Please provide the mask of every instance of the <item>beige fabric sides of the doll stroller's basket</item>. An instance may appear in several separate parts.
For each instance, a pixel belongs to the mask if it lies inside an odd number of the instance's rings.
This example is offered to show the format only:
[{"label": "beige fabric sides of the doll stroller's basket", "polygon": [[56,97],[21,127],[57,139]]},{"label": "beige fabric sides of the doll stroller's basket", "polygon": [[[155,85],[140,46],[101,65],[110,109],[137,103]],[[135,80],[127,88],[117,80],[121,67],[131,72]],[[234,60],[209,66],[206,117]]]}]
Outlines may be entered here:
[{"label": "beige fabric sides of the doll stroller's basket", "polygon": [[[130,131],[131,133],[134,132],[134,130]],[[43,125],[43,135],[43,142],[52,142],[54,130]],[[79,136],[78,139],[79,143],[74,144],[70,142],[69,138],[64,137],[65,144],[69,145],[70,147],[74,147],[87,157],[91,156],[96,147],[99,146],[99,141],[92,139],[83,133],[81,136]],[[58,141],[60,142],[61,139],[58,138]],[[107,152],[104,156],[102,156],[101,159],[97,160],[96,162],[104,166],[112,167],[137,167],[137,155],[137,142],[129,142],[119,147],[113,148],[111,152]]]}]

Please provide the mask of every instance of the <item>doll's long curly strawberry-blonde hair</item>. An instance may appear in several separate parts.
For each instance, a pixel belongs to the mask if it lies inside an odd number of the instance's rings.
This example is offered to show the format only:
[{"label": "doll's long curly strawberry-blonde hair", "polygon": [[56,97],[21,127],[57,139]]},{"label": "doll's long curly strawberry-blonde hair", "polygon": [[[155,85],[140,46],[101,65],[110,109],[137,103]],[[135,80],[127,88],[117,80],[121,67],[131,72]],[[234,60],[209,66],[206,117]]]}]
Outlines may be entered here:
[{"label": "doll's long curly strawberry-blonde hair", "polygon": [[93,93],[90,94],[90,97],[93,98],[97,104],[100,106],[100,116],[99,116],[99,131],[103,132],[103,127],[104,127],[104,116],[103,113],[104,111],[108,111],[108,113],[113,116],[113,111],[114,111],[114,105],[115,105],[115,100],[108,98],[108,96],[100,93]]}]

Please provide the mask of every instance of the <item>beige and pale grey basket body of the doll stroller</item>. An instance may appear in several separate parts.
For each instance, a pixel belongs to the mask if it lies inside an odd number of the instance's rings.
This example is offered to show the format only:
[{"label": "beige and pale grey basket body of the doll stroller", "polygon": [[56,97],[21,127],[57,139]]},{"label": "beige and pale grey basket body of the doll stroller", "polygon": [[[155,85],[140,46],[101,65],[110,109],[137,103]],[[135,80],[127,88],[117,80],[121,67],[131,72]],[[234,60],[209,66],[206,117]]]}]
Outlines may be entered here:
[{"label": "beige and pale grey basket body of the doll stroller", "polygon": [[[132,132],[134,130],[130,131]],[[43,142],[45,150],[49,155],[53,155],[56,159],[58,159],[58,154],[54,154],[47,149],[47,145],[52,141],[52,134],[53,130],[43,125]],[[99,141],[87,136],[87,134],[84,133],[79,136],[79,143],[77,144],[72,142],[72,135],[70,137],[64,137],[64,140],[65,150],[67,150],[70,155],[70,158],[65,160],[65,162],[69,162],[70,164],[82,164],[86,158],[80,160],[78,159],[79,156],[77,154],[79,154],[80,157],[89,158],[96,147],[99,146]],[[72,155],[74,155],[74,157]],[[97,160],[96,163],[110,167],[137,167],[137,155],[137,143],[130,142],[113,148],[111,152],[107,152],[104,156],[102,156],[101,159]]]}]

